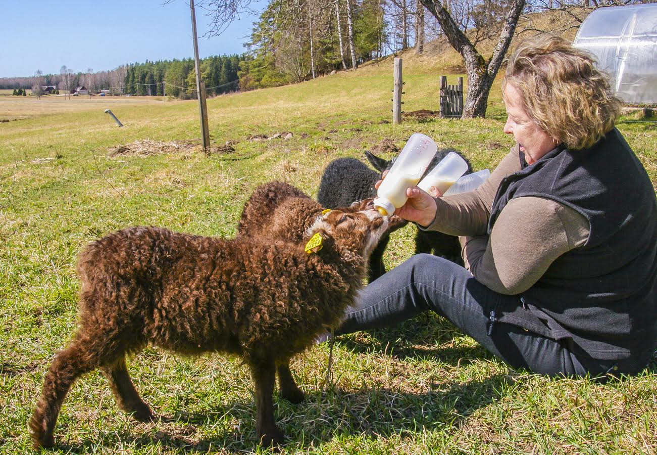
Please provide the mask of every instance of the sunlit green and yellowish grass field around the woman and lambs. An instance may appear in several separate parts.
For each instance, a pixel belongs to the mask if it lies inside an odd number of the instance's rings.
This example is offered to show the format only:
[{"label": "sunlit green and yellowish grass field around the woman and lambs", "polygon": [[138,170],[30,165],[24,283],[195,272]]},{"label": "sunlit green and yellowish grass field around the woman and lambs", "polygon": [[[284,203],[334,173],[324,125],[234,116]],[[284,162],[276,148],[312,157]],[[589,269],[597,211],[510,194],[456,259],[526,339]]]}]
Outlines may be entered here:
[{"label": "sunlit green and yellowish grass field around the woman and lambs", "polygon": [[[78,251],[133,225],[235,235],[244,201],[269,180],[315,196],[323,168],[340,156],[413,132],[455,147],[474,168],[507,153],[499,84],[489,117],[388,122],[392,64],[304,84],[224,95],[208,103],[215,145],[204,156],[171,147],[111,155],[120,145],[199,137],[194,101],[0,99],[0,452],[30,452],[26,422],[53,354],[76,326]],[[438,77],[405,61],[404,110],[438,108]],[[449,84],[453,84],[450,76]],[[85,101],[89,101],[86,103]],[[103,113],[125,124],[117,128]],[[654,122],[618,125],[657,183]],[[248,141],[292,132],[289,140]],[[390,157],[392,155],[384,155]],[[620,195],[622,197],[622,195]],[[386,262],[413,252],[398,231]],[[290,442],[283,453],[655,453],[657,359],[638,377],[599,385],[513,371],[438,316],[340,337],[334,380],[323,390],[328,346],[292,365],[307,401],[277,400]],[[55,437],[57,453],[204,454],[256,451],[255,405],[246,368],[222,355],[183,358],[148,348],[129,360],[143,398],[164,419],[137,423],[116,408],[99,372],[75,383]]]}]

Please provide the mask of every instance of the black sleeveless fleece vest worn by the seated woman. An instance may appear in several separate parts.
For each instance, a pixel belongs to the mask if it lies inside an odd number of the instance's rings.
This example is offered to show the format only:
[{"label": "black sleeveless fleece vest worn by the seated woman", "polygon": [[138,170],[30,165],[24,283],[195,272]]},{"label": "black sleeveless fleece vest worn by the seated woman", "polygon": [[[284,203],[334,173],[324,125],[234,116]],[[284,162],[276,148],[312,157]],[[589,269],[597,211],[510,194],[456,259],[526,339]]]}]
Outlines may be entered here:
[{"label": "black sleeveless fleece vest worn by the seated woman", "polygon": [[[556,340],[600,359],[652,349],[657,338],[657,200],[645,168],[618,130],[593,147],[557,147],[503,179],[488,233],[514,197],[544,197],[589,221],[585,245],[549,266],[517,306],[497,320]],[[522,223],[522,220],[518,220]],[[537,245],[537,248],[540,248]]]}]

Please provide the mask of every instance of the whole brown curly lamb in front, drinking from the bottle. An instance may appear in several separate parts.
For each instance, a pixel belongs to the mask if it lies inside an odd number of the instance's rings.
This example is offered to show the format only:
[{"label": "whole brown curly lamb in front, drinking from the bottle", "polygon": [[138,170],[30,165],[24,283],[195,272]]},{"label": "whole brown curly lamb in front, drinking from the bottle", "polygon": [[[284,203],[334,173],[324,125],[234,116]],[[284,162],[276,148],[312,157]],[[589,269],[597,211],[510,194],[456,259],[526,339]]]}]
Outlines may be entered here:
[{"label": "whole brown curly lamb in front, drinking from the bottle", "polygon": [[[367,256],[388,228],[376,210],[333,210],[315,218],[304,245],[128,228],[81,252],[79,328],[55,356],[30,419],[35,447],[53,446],[62,401],[83,373],[99,368],[120,408],[154,418],[125,366],[152,344],[182,354],[242,356],[256,386],[260,443],[283,442],[272,408],[275,373],[283,398],[300,402],[289,360],[340,323],[361,287]],[[307,245],[306,245],[307,247]],[[319,249],[321,248],[321,249]],[[317,251],[319,249],[319,251]]]}]

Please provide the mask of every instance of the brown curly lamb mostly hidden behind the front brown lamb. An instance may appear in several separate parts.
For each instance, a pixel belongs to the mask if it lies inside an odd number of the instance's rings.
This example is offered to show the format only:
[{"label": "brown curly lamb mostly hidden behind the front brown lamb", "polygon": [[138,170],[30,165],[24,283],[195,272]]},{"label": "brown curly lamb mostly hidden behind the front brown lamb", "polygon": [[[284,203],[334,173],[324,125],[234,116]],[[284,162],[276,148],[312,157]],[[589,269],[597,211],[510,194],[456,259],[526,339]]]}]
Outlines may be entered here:
[{"label": "brown curly lamb mostly hidden behind the front brown lamb", "polygon": [[[359,212],[370,208],[374,208],[373,198],[357,201],[338,210]],[[321,204],[300,189],[282,181],[271,181],[256,188],[244,204],[237,233],[245,237],[301,243],[306,229],[312,226],[315,218],[324,210]],[[405,220],[391,216],[388,231],[394,231],[405,224]]]}]

